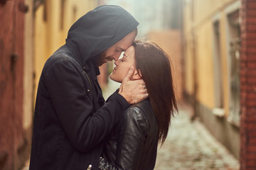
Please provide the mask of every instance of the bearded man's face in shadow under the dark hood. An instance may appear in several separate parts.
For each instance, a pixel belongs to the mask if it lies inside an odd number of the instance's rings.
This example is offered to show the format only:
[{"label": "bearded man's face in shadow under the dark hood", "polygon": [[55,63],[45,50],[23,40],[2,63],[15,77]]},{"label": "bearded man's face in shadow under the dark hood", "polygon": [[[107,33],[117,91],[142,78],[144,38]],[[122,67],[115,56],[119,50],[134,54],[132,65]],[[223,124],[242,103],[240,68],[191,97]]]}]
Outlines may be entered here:
[{"label": "bearded man's face in shadow under the dark hood", "polygon": [[132,33],[127,34],[124,38],[119,40],[117,43],[109,47],[105,52],[102,52],[100,54],[100,61],[97,62],[97,66],[101,66],[102,64],[106,63],[107,61],[117,61],[119,59],[119,56],[121,53],[129,46],[132,45],[132,43],[135,40],[135,37],[137,35],[137,31],[134,30]]}]

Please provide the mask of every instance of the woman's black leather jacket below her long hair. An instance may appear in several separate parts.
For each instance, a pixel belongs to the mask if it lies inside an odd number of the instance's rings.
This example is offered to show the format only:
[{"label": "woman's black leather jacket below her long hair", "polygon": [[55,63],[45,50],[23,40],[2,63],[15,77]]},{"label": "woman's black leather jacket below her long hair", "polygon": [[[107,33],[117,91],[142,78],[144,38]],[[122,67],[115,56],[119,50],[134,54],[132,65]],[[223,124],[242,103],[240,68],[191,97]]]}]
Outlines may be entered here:
[{"label": "woman's black leather jacket below her long hair", "polygon": [[159,140],[156,116],[149,99],[124,111],[103,149],[100,169],[154,169]]}]

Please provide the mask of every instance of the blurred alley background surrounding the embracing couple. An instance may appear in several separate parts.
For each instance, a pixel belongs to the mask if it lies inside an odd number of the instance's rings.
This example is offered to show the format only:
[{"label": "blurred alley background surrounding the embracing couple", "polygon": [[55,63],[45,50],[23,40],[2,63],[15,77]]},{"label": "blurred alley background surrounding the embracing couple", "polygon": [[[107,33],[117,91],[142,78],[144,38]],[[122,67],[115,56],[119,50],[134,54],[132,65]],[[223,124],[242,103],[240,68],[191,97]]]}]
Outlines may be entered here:
[{"label": "blurred alley background surrounding the embracing couple", "polygon": [[[103,4],[127,9],[137,39],[171,58],[180,113],[156,169],[256,169],[255,0],[0,0],[0,169],[28,169],[43,64]],[[113,65],[100,67],[105,98],[119,87]]]}]

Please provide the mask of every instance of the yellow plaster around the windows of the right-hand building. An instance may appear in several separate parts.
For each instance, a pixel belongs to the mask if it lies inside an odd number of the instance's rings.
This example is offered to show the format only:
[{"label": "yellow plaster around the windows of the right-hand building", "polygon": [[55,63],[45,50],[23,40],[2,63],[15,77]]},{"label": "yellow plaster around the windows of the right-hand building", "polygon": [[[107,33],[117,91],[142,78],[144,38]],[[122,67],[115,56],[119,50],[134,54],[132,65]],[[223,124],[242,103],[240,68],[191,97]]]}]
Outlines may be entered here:
[{"label": "yellow plaster around the windows of the right-hand building", "polygon": [[[223,104],[228,115],[229,80],[227,49],[227,13],[225,9],[238,0],[186,0],[183,1],[184,90],[194,93],[193,67],[196,66],[196,99],[208,108],[215,107],[213,64],[213,18],[218,15],[220,23],[220,54],[222,56]],[[193,41],[193,33],[195,41]],[[193,47],[196,52],[193,53]],[[193,55],[195,60],[193,60]]]}]

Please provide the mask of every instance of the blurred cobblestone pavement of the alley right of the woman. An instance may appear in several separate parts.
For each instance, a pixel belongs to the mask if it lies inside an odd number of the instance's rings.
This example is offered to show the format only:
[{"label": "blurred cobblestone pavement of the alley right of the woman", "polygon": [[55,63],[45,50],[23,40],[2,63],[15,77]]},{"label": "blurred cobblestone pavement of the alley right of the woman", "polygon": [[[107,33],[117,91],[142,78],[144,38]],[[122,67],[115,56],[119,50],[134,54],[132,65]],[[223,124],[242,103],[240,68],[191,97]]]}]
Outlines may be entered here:
[{"label": "blurred cobblestone pavement of the alley right of the woman", "polygon": [[166,142],[159,147],[156,170],[236,170],[235,159],[198,120],[191,123],[187,106],[179,107]]}]

